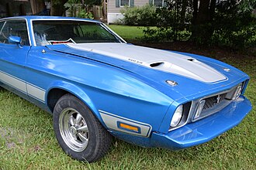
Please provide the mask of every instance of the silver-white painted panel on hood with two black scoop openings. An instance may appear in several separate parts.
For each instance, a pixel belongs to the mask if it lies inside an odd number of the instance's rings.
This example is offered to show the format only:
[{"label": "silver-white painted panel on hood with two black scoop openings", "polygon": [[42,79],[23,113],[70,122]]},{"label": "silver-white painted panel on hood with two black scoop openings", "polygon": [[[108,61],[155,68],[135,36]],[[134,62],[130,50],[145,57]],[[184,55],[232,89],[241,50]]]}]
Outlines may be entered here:
[{"label": "silver-white painted panel on hood with two black scoop openings", "polygon": [[[186,76],[205,83],[227,80],[226,76],[213,67],[191,56],[172,53],[170,51],[133,46],[126,43],[83,43],[67,44],[66,46],[71,49],[122,59],[140,66],[146,66],[150,69]],[[111,60],[109,63],[111,63]],[[115,65],[116,63],[113,62],[111,64]]]}]

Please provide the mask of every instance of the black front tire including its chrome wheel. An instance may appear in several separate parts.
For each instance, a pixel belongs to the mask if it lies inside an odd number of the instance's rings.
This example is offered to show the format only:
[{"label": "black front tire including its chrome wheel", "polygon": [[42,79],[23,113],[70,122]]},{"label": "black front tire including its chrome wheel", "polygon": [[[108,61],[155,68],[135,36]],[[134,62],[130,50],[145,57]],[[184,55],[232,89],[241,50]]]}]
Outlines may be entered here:
[{"label": "black front tire including its chrome wheel", "polygon": [[112,136],[77,97],[61,97],[54,107],[53,119],[57,141],[72,158],[96,162],[109,151]]}]

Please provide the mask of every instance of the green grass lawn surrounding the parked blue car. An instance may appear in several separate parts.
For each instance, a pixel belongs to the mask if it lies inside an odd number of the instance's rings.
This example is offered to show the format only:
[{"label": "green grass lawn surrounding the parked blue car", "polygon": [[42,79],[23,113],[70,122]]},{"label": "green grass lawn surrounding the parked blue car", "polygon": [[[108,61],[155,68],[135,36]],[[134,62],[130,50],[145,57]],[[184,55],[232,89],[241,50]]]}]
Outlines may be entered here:
[{"label": "green grass lawn surrounding the parked blue car", "polygon": [[[141,35],[140,29],[135,27],[111,28],[125,39]],[[196,49],[188,44],[147,46],[199,53],[243,70],[251,76],[245,95],[254,109],[236,128],[206,144],[168,151],[140,148],[115,140],[102,160],[89,165],[71,159],[61,150],[54,136],[50,114],[7,90],[0,90],[0,169],[255,169],[256,56],[226,49]]]}]

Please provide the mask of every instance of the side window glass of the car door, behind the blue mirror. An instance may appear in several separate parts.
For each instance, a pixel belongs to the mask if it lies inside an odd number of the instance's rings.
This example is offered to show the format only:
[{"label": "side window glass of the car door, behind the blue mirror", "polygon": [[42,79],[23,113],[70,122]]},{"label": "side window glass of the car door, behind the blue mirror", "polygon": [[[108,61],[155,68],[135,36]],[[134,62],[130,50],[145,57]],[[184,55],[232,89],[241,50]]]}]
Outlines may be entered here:
[{"label": "side window glass of the car door, behind the blue mirror", "polygon": [[[1,23],[0,23],[1,26]],[[26,29],[26,21],[10,20],[5,22],[5,26],[0,33],[0,42],[8,44],[9,36],[19,36],[22,41],[22,46],[29,46],[29,36]]]}]

